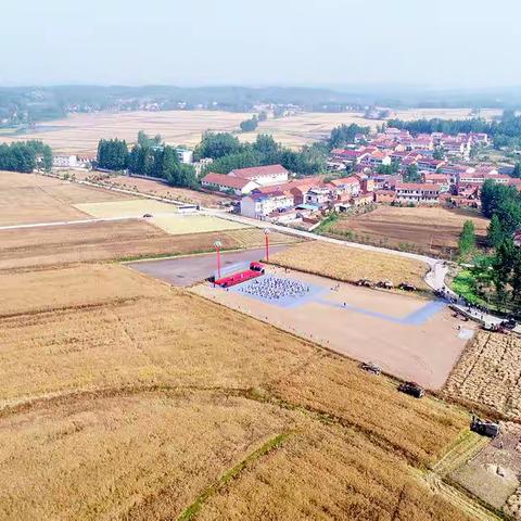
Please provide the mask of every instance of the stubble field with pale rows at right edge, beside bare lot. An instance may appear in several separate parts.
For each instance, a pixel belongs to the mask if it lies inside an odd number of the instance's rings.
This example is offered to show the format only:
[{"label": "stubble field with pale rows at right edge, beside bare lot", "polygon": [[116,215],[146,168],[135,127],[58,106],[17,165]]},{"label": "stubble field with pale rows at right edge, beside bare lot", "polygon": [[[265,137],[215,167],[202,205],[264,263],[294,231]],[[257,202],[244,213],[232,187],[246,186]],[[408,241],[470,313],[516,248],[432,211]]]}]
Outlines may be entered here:
[{"label": "stubble field with pale rows at right edge, beside bare lot", "polygon": [[521,339],[480,331],[454,368],[445,394],[521,420]]}]

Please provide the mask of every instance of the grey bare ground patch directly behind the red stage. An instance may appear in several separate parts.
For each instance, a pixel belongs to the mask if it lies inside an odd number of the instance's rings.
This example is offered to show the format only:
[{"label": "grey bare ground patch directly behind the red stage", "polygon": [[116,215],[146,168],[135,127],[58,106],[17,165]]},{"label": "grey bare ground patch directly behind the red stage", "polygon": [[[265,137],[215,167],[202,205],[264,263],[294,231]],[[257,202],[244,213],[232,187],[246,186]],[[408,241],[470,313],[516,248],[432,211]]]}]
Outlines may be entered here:
[{"label": "grey bare ground patch directly behind the red stage", "polygon": [[[271,246],[270,252],[280,252],[288,246]],[[223,252],[221,266],[225,270],[234,264],[258,260],[264,257],[264,249]],[[215,253],[190,255],[187,257],[140,260],[128,263],[132,269],[164,280],[173,285],[187,287],[209,277],[217,269]]]}]

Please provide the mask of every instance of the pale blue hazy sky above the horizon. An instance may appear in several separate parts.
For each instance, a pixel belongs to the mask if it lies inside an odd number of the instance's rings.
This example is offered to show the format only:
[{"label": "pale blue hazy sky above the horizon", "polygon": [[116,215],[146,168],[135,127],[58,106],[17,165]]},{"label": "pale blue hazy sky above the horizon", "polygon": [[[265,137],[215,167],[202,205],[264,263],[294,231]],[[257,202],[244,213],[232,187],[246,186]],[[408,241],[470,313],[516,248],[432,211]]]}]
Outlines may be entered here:
[{"label": "pale blue hazy sky above the horizon", "polygon": [[521,0],[1,0],[0,85],[521,86]]}]

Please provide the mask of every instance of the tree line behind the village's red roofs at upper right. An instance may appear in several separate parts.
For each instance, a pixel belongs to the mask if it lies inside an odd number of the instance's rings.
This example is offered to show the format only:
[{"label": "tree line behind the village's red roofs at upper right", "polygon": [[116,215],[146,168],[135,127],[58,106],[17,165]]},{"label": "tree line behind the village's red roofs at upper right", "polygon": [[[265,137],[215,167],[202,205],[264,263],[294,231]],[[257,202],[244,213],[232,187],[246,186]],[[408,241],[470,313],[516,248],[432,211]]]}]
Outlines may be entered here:
[{"label": "tree line behind the village's red roofs at upper right", "polygon": [[457,135],[459,132],[484,132],[488,135],[494,147],[520,147],[521,145],[521,116],[517,116],[513,111],[504,111],[499,120],[486,122],[480,117],[471,119],[416,119],[404,122],[402,119],[390,119],[390,127],[401,130],[408,130],[412,135],[444,132],[447,135]]}]

